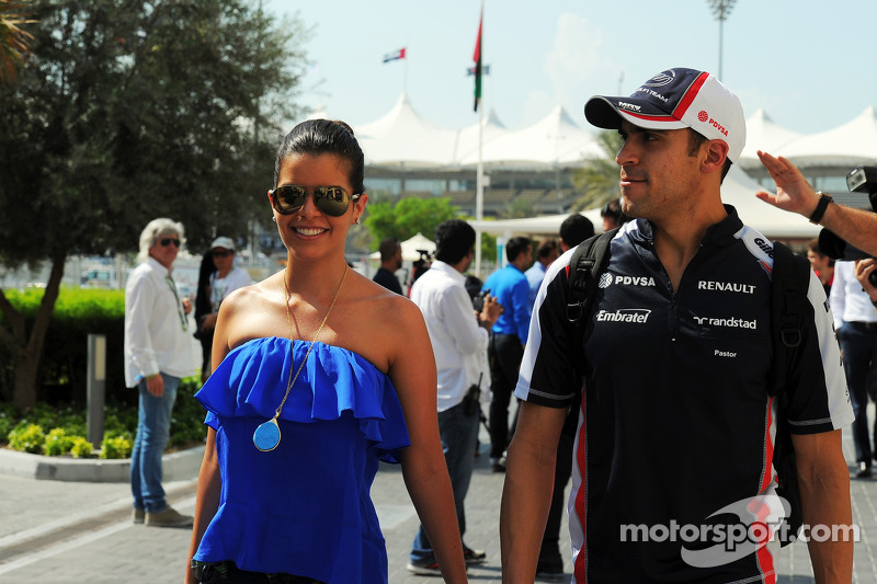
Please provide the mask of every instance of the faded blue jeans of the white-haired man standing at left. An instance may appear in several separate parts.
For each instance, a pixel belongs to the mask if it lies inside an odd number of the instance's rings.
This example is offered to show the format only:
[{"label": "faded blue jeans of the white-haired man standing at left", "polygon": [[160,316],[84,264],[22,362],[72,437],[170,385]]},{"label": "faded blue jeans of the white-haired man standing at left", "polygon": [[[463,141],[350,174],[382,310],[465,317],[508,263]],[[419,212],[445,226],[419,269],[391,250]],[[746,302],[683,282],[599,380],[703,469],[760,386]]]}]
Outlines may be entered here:
[{"label": "faded blue jeans of the white-haired man standing at left", "polygon": [[161,488],[161,456],[171,435],[171,411],[180,378],[161,374],[164,393],[156,398],[141,379],[137,389],[140,400],[137,414],[137,437],[130,454],[130,490],[134,507],[160,513],[168,506]]}]

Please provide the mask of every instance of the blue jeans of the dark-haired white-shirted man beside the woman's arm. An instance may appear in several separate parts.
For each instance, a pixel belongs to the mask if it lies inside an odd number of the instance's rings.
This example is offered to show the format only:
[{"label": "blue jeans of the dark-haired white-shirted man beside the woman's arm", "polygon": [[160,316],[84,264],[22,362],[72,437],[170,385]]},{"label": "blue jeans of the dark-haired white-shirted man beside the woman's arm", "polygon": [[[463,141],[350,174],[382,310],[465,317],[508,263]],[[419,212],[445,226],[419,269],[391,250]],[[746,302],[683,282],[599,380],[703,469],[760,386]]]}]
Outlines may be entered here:
[{"label": "blue jeans of the dark-haired white-shirted man beside the woman's arm", "polygon": [[[453,408],[438,412],[438,434],[442,438],[442,449],[445,453],[447,473],[451,476],[451,488],[454,491],[454,507],[457,511],[460,540],[466,533],[466,513],[463,501],[469,491],[469,482],[475,468],[475,445],[478,440],[478,412],[466,414],[463,402]],[[432,563],[435,556],[426,537],[426,531],[421,525],[414,542],[411,546],[411,561],[417,563]]]}]

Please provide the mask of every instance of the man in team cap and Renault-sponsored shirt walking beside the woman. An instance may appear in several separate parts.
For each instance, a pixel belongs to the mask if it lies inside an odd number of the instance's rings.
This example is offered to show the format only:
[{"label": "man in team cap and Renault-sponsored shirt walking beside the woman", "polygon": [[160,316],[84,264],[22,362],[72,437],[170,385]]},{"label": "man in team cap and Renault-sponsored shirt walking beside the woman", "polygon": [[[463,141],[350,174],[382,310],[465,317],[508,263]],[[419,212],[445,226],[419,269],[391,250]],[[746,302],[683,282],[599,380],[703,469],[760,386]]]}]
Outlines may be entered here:
[{"label": "man in team cap and Renault-sponsored shirt walking beside the woman", "polygon": [[[745,141],[742,106],[714,76],[677,68],[630,96],[591,98],[584,114],[624,140],[622,210],[635,220],[610,244],[581,345],[566,318],[572,254],[548,270],[533,309],[500,520],[503,582],[533,582],[577,393],[573,582],[775,582],[779,542],[768,539],[785,511],[767,394],[772,247],[720,197]],[[853,412],[815,275],[805,321],[783,393],[804,520],[848,536],[840,428]],[[817,581],[850,582],[852,539],[820,539],[809,545]]]}]

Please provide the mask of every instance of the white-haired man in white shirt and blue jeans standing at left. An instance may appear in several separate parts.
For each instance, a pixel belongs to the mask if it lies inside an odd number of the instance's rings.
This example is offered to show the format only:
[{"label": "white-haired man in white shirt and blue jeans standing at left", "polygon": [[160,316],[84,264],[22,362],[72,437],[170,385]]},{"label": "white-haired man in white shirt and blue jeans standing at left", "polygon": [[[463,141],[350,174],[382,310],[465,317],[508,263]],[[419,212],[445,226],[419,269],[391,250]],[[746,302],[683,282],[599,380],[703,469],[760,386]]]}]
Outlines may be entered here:
[{"label": "white-haired man in white shirt and blue jeans standing at left", "polygon": [[125,286],[125,383],[140,392],[130,457],[132,518],[155,527],[192,525],[192,517],[168,505],[161,486],[176,388],[194,373],[186,321],[192,305],[180,297],[171,275],[182,241],[181,224],[150,221],[140,233],[140,264]]}]

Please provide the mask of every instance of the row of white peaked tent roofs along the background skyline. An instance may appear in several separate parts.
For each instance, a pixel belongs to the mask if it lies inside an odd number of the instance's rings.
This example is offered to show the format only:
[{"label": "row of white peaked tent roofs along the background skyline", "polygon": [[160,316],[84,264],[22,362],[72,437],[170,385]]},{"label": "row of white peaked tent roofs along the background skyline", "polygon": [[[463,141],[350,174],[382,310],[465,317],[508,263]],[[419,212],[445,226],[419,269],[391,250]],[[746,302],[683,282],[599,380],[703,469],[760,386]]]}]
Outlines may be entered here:
[{"label": "row of white peaked tent roofs along the background skyline", "polygon": [[[320,115],[331,116],[320,111]],[[592,158],[603,158],[595,128],[580,127],[561,106],[521,129],[506,129],[490,112],[483,122],[482,160],[488,170],[550,171],[578,168]],[[583,122],[582,122],[583,123]],[[402,93],[380,118],[354,126],[369,167],[398,171],[470,170],[478,163],[478,124],[463,129],[437,127],[422,117]],[[747,146],[740,167],[759,169],[756,150],[782,154],[796,164],[843,167],[877,161],[877,114],[866,108],[838,128],[800,135],[771,121],[763,111],[747,119]]]}]

